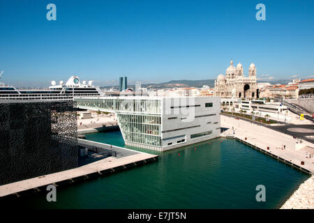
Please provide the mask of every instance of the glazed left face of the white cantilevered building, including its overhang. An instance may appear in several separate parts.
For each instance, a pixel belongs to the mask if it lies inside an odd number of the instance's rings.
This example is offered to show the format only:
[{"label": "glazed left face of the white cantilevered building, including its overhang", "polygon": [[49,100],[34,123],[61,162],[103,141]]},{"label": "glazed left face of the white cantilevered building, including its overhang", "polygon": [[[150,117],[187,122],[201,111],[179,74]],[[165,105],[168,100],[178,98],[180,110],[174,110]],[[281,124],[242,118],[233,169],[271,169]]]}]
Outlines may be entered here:
[{"label": "glazed left face of the white cantilevered building, including its overhang", "polygon": [[161,101],[132,98],[75,98],[77,107],[115,112],[126,142],[161,146]]}]

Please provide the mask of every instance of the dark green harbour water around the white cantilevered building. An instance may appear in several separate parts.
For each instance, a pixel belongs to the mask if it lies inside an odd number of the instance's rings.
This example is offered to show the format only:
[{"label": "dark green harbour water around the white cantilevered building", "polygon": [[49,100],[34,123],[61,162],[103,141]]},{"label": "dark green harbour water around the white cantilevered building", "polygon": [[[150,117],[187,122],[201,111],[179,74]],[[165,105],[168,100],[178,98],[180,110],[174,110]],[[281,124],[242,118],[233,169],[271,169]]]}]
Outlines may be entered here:
[{"label": "dark green harbour water around the white cantilevered building", "polygon": [[[124,146],[120,132],[87,139]],[[213,139],[162,153],[143,167],[57,187],[57,202],[44,194],[21,202],[30,208],[280,208],[308,177],[234,139]],[[266,187],[266,202],[255,200],[257,185]]]}]

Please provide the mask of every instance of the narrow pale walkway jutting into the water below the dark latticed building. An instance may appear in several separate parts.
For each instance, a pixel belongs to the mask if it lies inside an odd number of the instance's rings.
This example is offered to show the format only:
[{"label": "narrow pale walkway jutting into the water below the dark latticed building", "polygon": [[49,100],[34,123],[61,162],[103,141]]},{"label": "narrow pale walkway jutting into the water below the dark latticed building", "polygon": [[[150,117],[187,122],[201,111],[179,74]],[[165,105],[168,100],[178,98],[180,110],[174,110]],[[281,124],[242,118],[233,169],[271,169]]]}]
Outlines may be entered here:
[{"label": "narrow pale walkway jutting into the water below the dark latticed building", "polygon": [[[84,140],[86,142],[86,140]],[[119,148],[121,152],[124,148]],[[100,176],[109,172],[114,172],[119,169],[126,169],[128,166],[137,166],[149,161],[158,159],[158,155],[152,155],[149,153],[142,153],[137,151],[130,151],[126,149],[126,156],[107,157],[103,160],[86,164],[82,167],[75,169],[69,169],[54,174],[47,174],[45,176],[39,176],[36,178],[30,178],[27,180],[21,180],[15,183],[9,183],[0,186],[0,197],[5,197],[10,194],[18,194],[27,190],[38,190],[38,187],[47,186],[50,184],[58,185],[59,183],[75,182],[78,178],[89,178],[89,176]],[[134,154],[135,153],[135,154]],[[45,189],[43,189],[45,190]]]}]

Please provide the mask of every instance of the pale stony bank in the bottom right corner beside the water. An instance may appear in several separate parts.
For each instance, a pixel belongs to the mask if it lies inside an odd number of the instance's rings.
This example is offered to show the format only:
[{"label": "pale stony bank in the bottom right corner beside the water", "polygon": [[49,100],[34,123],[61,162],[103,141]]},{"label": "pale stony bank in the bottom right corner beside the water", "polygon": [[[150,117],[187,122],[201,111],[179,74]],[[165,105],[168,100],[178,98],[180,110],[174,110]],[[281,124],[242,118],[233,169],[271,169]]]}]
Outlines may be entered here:
[{"label": "pale stony bank in the bottom right corner beside the water", "polygon": [[287,199],[281,209],[314,209],[314,176],[308,178]]}]

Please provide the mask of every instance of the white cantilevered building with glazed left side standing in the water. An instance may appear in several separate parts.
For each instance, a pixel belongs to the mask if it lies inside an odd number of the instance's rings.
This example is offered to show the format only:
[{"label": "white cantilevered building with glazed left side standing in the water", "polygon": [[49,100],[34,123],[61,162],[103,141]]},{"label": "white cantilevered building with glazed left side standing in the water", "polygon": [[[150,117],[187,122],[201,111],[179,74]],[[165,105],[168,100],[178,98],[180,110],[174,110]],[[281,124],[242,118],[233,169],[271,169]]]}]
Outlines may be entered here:
[{"label": "white cantilevered building with glazed left side standing in the water", "polygon": [[156,151],[220,137],[220,98],[75,98],[77,107],[114,112],[125,144]]}]

